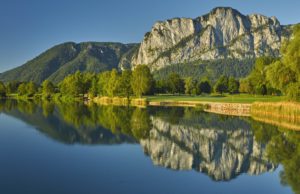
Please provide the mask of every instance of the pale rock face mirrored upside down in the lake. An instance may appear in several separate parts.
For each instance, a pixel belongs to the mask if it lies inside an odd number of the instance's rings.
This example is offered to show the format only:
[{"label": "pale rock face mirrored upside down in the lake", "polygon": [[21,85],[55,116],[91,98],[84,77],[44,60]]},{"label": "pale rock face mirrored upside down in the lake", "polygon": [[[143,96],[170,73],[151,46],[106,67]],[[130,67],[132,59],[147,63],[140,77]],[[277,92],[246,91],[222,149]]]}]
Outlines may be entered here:
[{"label": "pale rock face mirrored upside down in the lake", "polygon": [[140,143],[155,165],[175,170],[194,169],[217,181],[276,168],[267,159],[265,146],[256,142],[249,129],[198,129],[155,117],[152,124],[150,138]]}]

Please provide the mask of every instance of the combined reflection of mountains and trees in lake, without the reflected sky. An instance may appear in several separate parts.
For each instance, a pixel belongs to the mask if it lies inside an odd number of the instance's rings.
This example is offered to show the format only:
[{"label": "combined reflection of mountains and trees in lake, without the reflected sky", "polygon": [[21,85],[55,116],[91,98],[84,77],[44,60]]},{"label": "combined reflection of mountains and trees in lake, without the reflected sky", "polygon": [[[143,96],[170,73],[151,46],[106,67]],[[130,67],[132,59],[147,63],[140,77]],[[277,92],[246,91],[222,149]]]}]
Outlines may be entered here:
[{"label": "combined reflection of mountains and trees in lake, without the reflected sky", "polygon": [[228,181],[278,164],[283,185],[300,193],[300,134],[196,108],[134,108],[1,101],[0,111],[66,144],[140,143],[158,166],[196,170]]}]

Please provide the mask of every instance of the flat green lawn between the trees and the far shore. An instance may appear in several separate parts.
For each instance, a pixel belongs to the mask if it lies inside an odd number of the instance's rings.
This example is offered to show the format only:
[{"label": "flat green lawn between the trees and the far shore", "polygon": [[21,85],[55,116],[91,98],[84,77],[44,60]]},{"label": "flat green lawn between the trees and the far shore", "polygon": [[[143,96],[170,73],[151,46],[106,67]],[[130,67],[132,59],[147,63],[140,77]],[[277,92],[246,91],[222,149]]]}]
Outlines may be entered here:
[{"label": "flat green lawn between the trees and the far shore", "polygon": [[205,102],[233,102],[233,103],[253,103],[253,102],[279,102],[284,101],[284,96],[261,96],[249,94],[236,95],[207,95],[207,96],[186,96],[186,95],[156,95],[146,97],[150,102],[163,101],[205,101]]}]

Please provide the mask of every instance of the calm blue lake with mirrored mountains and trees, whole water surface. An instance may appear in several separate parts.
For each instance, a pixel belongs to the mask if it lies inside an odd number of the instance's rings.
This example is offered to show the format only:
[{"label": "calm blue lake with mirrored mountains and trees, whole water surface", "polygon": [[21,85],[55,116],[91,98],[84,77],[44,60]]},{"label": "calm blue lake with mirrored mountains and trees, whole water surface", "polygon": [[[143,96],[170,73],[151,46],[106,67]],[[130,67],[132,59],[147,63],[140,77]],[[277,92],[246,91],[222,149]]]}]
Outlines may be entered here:
[{"label": "calm blue lake with mirrored mountains and trees, whole water surface", "polygon": [[198,108],[0,102],[0,193],[300,193],[300,133]]}]

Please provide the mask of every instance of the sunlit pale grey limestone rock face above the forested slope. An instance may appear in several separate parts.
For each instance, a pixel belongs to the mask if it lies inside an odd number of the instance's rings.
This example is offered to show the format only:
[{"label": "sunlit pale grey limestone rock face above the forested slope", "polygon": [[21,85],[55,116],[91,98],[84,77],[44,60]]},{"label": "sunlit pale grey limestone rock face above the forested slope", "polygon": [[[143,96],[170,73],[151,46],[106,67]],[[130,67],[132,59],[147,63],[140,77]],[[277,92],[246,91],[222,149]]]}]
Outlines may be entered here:
[{"label": "sunlit pale grey limestone rock face above the forested slope", "polygon": [[197,60],[278,56],[282,41],[289,37],[286,31],[275,17],[215,8],[195,19],[157,22],[145,34],[131,64],[160,69]]}]

